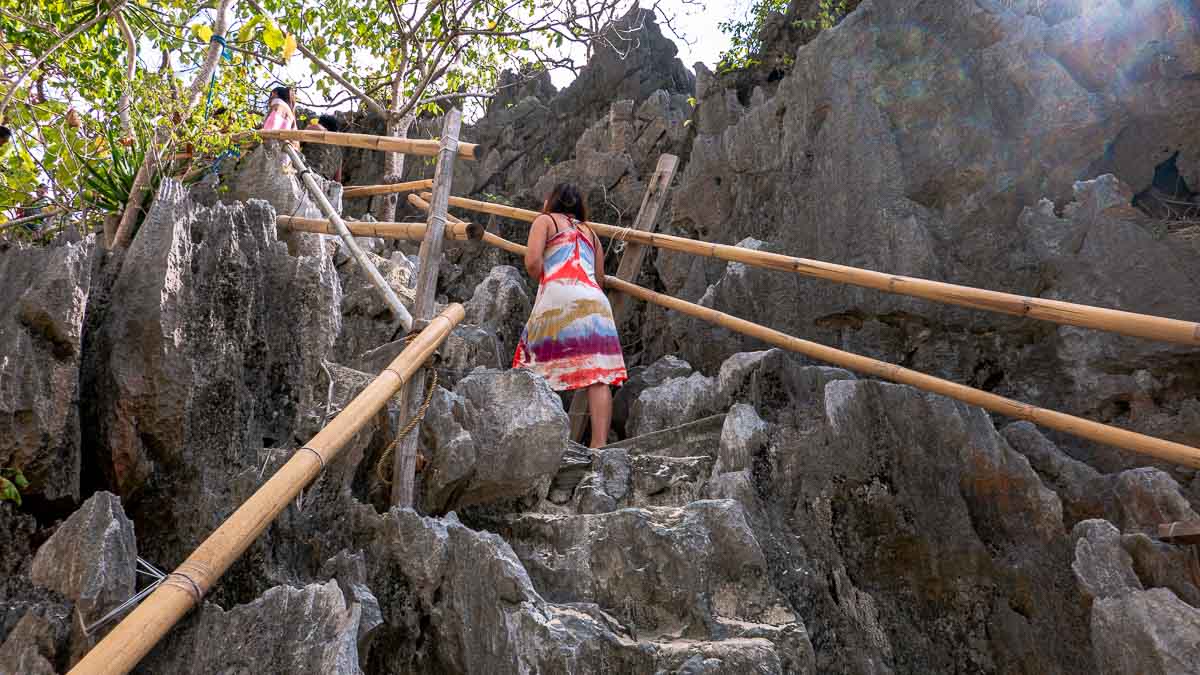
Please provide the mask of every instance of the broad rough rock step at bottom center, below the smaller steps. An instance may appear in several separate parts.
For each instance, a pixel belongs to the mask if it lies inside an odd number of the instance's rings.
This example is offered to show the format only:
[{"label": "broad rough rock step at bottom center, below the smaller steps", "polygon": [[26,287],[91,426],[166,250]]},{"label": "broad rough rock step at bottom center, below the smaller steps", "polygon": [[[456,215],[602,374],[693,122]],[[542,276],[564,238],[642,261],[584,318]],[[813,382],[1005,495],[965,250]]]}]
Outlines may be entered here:
[{"label": "broad rough rock step at bottom center, below the smaller steps", "polygon": [[811,651],[804,626],[769,581],[742,504],[732,500],[521,514],[500,530],[544,598],[594,604],[638,640],[764,639],[787,662]]}]

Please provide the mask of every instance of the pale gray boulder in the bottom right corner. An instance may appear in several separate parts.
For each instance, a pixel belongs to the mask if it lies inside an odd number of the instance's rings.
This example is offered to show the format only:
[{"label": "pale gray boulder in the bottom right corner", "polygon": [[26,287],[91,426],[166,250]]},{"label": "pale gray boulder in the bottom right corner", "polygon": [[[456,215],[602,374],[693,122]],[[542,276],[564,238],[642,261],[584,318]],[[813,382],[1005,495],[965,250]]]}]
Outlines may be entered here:
[{"label": "pale gray boulder in the bottom right corner", "polygon": [[1166,589],[1103,598],[1092,607],[1097,673],[1195,673],[1198,633],[1200,609]]}]

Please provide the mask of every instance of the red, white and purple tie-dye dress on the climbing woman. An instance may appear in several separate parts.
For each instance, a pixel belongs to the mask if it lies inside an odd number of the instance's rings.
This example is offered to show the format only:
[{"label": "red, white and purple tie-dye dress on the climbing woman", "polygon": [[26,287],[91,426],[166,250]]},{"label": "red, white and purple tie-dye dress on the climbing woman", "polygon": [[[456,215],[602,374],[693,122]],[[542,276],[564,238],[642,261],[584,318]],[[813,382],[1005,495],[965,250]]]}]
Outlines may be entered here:
[{"label": "red, white and purple tie-dye dress on the climbing woman", "polygon": [[595,281],[592,239],[574,221],[546,241],[538,298],[512,368],[533,370],[559,392],[628,377],[612,306]]}]

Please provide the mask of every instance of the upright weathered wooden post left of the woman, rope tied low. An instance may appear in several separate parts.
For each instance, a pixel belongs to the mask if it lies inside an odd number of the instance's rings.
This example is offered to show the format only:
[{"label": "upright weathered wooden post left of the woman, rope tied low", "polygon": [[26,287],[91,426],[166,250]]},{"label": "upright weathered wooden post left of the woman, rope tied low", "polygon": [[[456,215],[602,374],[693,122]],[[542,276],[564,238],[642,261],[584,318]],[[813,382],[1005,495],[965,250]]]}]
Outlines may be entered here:
[{"label": "upright weathered wooden post left of the woman, rope tied low", "polygon": [[[449,209],[450,189],[454,183],[454,160],[458,154],[458,131],[462,126],[462,112],[458,108],[446,110],[442,124],[442,150],[438,153],[438,166],[433,172],[433,199],[430,203],[428,227],[421,240],[420,263],[416,269],[416,303],[413,307],[418,319],[433,316],[437,300],[438,268],[442,261],[442,243],[445,240],[446,210]],[[400,410],[407,417],[416,414],[420,393],[425,388],[425,375],[418,372],[400,392]],[[409,434],[396,447],[392,458],[391,503],[410,507],[414,503],[413,480],[416,474],[416,443],[420,434]]]}]

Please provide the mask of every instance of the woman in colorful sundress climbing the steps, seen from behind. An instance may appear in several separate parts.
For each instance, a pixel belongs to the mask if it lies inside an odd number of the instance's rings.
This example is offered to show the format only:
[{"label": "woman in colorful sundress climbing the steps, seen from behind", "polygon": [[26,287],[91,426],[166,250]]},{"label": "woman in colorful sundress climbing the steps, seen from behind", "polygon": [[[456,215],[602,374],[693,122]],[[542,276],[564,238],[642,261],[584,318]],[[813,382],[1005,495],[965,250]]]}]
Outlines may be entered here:
[{"label": "woman in colorful sundress climbing the steps, seen from behind", "polygon": [[558,392],[587,389],[593,448],[608,442],[612,390],[628,378],[612,306],[604,293],[604,249],[587,225],[580,189],[559,183],[529,228],[524,265],[538,297],[512,368],[529,369]]}]

